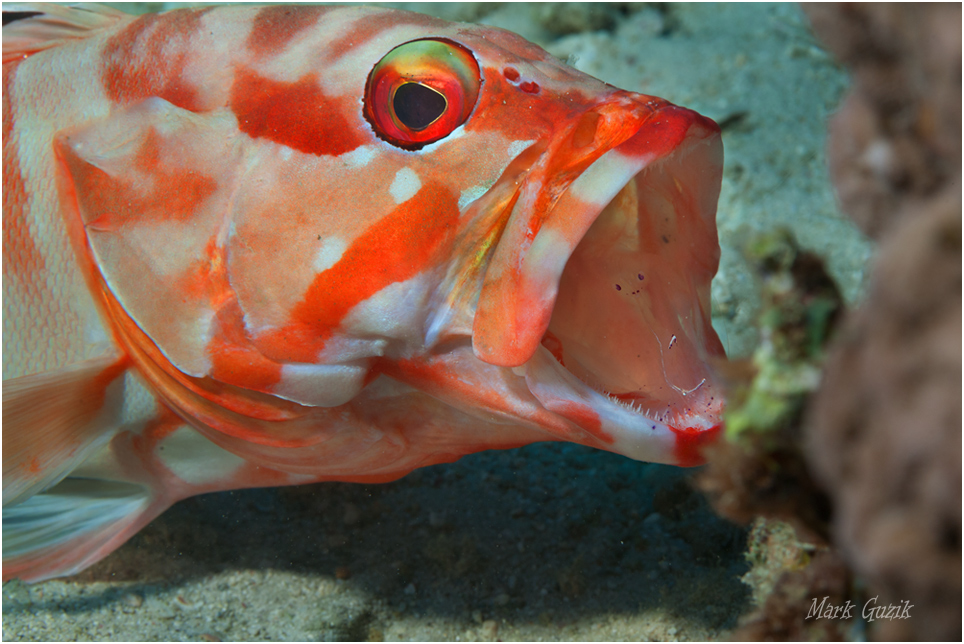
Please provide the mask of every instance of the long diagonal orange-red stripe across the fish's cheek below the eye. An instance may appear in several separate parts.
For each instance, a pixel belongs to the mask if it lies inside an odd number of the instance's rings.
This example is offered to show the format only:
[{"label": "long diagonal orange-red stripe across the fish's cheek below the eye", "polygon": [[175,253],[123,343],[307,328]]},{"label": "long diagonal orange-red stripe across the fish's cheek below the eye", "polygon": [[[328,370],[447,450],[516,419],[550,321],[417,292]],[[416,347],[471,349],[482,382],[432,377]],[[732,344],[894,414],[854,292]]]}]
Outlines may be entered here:
[{"label": "long diagonal orange-red stripe across the fish's cheek below the eye", "polygon": [[458,198],[444,184],[418,194],[366,229],[341,259],[319,273],[291,314],[291,324],[255,340],[274,360],[314,362],[356,305],[432,265],[456,231]]}]

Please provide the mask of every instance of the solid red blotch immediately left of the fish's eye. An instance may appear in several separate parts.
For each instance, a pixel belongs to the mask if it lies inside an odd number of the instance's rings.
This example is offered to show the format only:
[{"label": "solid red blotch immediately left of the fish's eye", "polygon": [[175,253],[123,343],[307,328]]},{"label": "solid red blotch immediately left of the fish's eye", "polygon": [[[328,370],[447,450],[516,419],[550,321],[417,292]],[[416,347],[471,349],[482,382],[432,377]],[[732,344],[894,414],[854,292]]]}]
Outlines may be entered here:
[{"label": "solid red blotch immediately left of the fish's eye", "polygon": [[231,86],[231,110],[238,127],[252,138],[264,138],[317,156],[338,156],[374,138],[362,134],[346,114],[357,113],[356,98],[331,98],[314,74],[293,83],[271,80],[250,69],[239,68]]}]

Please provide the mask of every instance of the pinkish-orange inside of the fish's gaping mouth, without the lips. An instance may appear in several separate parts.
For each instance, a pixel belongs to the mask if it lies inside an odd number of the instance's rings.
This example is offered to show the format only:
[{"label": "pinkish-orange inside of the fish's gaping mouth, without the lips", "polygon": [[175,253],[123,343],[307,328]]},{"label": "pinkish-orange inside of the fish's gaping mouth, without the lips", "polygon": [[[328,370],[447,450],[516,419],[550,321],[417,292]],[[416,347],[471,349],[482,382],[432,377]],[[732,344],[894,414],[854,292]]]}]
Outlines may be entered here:
[{"label": "pinkish-orange inside of the fish's gaping mouth, without the lips", "polygon": [[543,346],[593,389],[674,422],[711,404],[707,358],[716,272],[714,190],[699,155],[634,177],[599,214],[563,271]]}]

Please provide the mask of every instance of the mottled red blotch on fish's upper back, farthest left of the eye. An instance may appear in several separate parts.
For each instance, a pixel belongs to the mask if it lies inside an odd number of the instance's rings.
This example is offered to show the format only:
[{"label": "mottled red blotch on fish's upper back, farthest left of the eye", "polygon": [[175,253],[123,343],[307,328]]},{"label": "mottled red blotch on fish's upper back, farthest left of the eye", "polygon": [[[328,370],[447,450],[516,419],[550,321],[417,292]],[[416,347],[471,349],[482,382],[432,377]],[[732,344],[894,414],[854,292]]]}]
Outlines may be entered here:
[{"label": "mottled red blotch on fish's upper back, farthest left of the eye", "polygon": [[152,96],[186,110],[202,109],[198,90],[184,78],[191,37],[208,9],[141,16],[111,37],[101,57],[108,98],[128,104]]}]

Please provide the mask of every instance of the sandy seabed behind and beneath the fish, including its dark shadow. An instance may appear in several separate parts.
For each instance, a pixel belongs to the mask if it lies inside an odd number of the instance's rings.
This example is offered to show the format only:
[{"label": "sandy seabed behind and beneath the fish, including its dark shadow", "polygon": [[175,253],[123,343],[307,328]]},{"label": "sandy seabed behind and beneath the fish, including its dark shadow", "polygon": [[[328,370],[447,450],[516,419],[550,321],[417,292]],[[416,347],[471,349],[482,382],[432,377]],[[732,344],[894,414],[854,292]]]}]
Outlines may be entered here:
[{"label": "sandy seabed behind and beneath the fish, including its dark shadow", "polygon": [[[847,78],[796,5],[407,8],[512,29],[723,126],[713,312],[731,355],[756,340],[740,251],[756,232],[789,228],[860,297],[872,247],[824,157]],[[386,485],[206,495],[80,575],[5,584],[3,639],[725,639],[751,607],[746,532],[691,475],[543,444]]]}]

